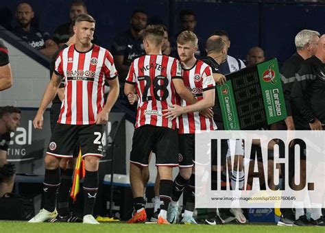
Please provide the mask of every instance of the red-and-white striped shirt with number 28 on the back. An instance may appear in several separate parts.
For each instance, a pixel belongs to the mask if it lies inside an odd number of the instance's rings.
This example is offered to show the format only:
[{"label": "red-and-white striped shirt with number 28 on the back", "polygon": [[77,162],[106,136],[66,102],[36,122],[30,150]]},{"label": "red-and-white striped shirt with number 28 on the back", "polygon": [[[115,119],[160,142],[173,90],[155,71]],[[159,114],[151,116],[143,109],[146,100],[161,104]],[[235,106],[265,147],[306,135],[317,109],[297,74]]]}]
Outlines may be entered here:
[{"label": "red-and-white striped shirt with number 28 on the back", "polygon": [[154,125],[175,129],[176,119],[163,116],[163,110],[176,103],[173,78],[182,78],[182,68],[176,58],[146,55],[136,58],[125,82],[135,84],[139,97],[135,127]]}]

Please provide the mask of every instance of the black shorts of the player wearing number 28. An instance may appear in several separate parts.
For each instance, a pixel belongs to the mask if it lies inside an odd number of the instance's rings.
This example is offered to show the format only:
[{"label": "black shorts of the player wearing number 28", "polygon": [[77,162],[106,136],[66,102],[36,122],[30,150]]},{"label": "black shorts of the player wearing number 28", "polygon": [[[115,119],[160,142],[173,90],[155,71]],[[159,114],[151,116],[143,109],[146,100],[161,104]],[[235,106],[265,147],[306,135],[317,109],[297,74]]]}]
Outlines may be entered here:
[{"label": "black shorts of the player wearing number 28", "polygon": [[156,166],[178,166],[178,133],[167,127],[143,125],[134,130],[130,162],[149,165],[149,154],[155,149]]}]

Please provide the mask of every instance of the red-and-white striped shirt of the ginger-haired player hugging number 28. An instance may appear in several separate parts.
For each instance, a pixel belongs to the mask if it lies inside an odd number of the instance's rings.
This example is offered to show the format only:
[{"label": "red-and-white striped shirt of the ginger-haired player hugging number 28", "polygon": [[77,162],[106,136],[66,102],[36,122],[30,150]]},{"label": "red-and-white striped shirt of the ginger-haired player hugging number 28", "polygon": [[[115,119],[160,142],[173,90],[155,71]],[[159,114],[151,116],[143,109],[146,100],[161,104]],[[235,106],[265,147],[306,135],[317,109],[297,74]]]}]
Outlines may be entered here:
[{"label": "red-and-white striped shirt of the ginger-haired player hugging number 28", "polygon": [[[215,88],[215,81],[211,67],[208,64],[197,60],[191,69],[183,69],[184,85],[191,90],[191,93],[200,101],[203,99],[203,92]],[[180,100],[181,106],[189,106],[184,99]],[[189,112],[178,116],[178,134],[195,134],[201,131],[217,130],[213,119],[207,119],[199,112]]]}]

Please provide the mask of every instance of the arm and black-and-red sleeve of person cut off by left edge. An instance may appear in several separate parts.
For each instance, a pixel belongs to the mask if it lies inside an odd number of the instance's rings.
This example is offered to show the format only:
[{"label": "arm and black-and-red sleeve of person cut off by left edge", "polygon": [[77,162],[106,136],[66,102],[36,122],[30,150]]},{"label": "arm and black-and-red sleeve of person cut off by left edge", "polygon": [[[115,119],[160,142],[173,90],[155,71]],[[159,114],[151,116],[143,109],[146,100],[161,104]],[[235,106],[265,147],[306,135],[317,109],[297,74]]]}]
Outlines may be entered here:
[{"label": "arm and black-and-red sleeve of person cut off by left edge", "polygon": [[0,91],[12,86],[12,73],[9,64],[8,49],[0,40]]}]

